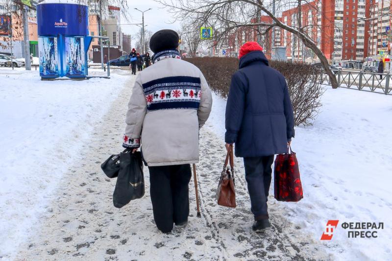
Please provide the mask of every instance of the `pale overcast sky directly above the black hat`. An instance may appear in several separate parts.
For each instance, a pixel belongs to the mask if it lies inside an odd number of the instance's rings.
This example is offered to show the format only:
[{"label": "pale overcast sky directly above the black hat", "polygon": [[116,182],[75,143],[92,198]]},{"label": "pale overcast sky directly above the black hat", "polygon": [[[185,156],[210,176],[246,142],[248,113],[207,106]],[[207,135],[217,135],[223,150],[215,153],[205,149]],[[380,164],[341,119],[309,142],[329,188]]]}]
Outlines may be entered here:
[{"label": "pale overcast sky directly above the black hat", "polygon": [[[177,30],[180,28],[180,23],[173,22],[172,15],[166,10],[159,8],[160,4],[155,2],[154,0],[128,0],[128,19],[130,22],[126,22],[125,19],[122,19],[121,24],[123,24],[122,30],[125,34],[131,34],[132,37],[140,31],[140,27],[137,25],[124,25],[124,24],[137,24],[142,23],[142,13],[135,10],[134,8],[138,8],[139,10],[147,10],[148,8],[152,8],[144,13],[144,23],[146,30],[150,30],[153,33],[159,31],[161,29],[173,29]],[[133,40],[133,39],[132,39]],[[133,44],[134,41],[132,41]]]}]

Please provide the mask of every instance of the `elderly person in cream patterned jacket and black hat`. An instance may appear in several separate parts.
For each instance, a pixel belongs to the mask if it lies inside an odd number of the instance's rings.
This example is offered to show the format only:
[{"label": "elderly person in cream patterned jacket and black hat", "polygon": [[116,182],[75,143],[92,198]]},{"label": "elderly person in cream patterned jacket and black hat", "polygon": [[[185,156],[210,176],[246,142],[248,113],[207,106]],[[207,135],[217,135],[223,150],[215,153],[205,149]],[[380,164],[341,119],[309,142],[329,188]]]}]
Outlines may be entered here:
[{"label": "elderly person in cream patterned jacket and black hat", "polygon": [[203,74],[180,59],[178,42],[172,30],[151,37],[154,64],[136,78],[123,140],[124,147],[142,146],[154,220],[164,233],[188,221],[190,164],[199,160],[199,129],[212,105]]}]

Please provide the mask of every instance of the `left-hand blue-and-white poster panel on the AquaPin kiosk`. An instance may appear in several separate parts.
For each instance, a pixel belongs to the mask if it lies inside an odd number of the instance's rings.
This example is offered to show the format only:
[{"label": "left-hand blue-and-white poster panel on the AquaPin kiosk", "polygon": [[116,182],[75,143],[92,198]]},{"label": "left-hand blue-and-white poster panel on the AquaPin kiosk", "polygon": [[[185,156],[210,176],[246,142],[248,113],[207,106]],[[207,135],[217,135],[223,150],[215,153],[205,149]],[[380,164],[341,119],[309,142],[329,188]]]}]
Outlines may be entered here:
[{"label": "left-hand blue-and-white poster panel on the AquaPin kiosk", "polygon": [[58,76],[57,37],[38,37],[40,76]]}]

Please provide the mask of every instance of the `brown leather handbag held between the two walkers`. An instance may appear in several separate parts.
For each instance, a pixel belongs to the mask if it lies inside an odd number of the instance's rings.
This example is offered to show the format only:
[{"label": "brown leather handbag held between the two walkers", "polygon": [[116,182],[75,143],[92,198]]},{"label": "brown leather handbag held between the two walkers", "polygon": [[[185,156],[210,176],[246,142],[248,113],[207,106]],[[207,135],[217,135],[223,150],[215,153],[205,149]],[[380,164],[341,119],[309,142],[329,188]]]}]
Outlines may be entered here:
[{"label": "brown leather handbag held between the two walkers", "polygon": [[[227,166],[229,161],[230,167]],[[223,171],[221,173],[216,193],[216,199],[218,200],[218,205],[229,208],[236,207],[233,146],[230,146],[230,149],[227,151],[226,160],[224,161]]]}]

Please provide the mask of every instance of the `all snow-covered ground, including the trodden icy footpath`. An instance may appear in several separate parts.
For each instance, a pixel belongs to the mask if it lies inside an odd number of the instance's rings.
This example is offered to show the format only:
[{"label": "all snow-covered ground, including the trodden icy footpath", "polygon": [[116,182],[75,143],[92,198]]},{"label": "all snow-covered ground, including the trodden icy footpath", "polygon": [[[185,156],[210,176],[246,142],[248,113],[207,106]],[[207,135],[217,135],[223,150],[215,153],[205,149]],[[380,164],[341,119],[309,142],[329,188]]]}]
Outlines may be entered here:
[{"label": "all snow-covered ground, including the trodden icy footpath", "polygon": [[[328,259],[322,251],[331,260],[390,260],[391,95],[325,87],[314,125],[295,128],[292,147],[304,198],[287,203],[270,196],[275,229],[261,236],[250,231],[241,159],[236,159],[241,175],[237,209],[222,209],[213,199],[224,156],[226,105],[213,95],[197,165],[203,218],[194,217],[190,184],[190,223],[163,235],[152,221],[148,187],[143,199],[116,210],[110,198],[114,181],[99,170],[107,155],[121,149],[122,113],[130,92],[126,88],[135,78],[126,73],[112,69],[111,79],[41,81],[38,71],[0,68],[0,260],[17,255],[67,260],[75,252],[96,260],[108,255],[108,248],[117,249],[121,260],[130,255],[140,260],[181,259],[183,251],[195,259],[206,255],[247,260],[260,258],[259,248],[274,258],[292,260],[297,253],[290,247],[292,241],[301,256],[315,260]],[[338,219],[338,227],[331,241],[321,241],[329,219]],[[348,238],[343,222],[384,222],[384,229],[377,230],[377,238]],[[117,235],[125,243],[120,245]],[[270,251],[277,241],[282,249]],[[77,248],[86,242],[86,247]],[[146,256],[140,256],[145,250]]]}]

